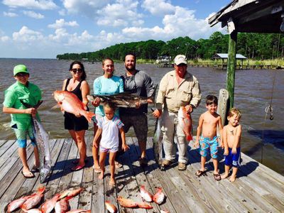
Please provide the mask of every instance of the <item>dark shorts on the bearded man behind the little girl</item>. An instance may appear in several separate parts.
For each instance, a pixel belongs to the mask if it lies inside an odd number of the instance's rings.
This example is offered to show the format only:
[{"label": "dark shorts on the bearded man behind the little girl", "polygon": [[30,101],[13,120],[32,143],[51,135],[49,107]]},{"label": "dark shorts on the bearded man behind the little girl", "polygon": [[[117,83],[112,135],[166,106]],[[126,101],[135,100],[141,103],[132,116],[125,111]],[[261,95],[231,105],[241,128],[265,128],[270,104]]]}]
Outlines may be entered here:
[{"label": "dark shorts on the bearded man behind the little girl", "polygon": [[133,126],[135,135],[139,142],[147,141],[148,121],[146,114],[138,115],[120,115],[122,123],[124,123],[124,131],[127,133],[131,126]]}]

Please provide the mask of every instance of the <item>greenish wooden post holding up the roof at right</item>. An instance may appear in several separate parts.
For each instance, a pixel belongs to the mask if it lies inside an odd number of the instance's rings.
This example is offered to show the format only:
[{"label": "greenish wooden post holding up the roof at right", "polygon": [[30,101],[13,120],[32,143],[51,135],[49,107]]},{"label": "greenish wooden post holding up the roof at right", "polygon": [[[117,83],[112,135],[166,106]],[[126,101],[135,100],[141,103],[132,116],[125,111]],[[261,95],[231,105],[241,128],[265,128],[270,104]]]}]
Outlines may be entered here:
[{"label": "greenish wooden post holding up the roof at right", "polygon": [[229,107],[234,107],[234,87],[236,70],[236,40],[237,32],[232,31],[229,35],[228,61],[226,70],[226,89],[229,92]]}]

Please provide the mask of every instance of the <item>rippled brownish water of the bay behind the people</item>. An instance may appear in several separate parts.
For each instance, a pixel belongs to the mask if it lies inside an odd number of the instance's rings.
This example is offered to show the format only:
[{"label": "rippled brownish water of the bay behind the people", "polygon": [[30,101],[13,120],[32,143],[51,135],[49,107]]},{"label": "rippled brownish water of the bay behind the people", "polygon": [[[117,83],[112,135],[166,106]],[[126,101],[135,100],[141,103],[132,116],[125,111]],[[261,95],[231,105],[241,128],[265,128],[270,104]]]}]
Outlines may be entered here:
[{"label": "rippled brownish water of the bay behind the people", "polygon": [[[18,64],[27,65],[30,70],[30,81],[37,84],[43,90],[43,104],[40,106],[40,117],[45,130],[50,133],[50,138],[69,138],[64,129],[63,116],[59,109],[51,109],[56,102],[52,97],[55,89],[62,88],[62,82],[70,77],[68,71],[70,61],[65,60],[41,60],[41,59],[0,59],[0,102],[4,101],[4,90],[13,82],[13,66]],[[87,72],[87,82],[91,87],[94,79],[102,75],[101,64],[84,63]],[[124,65],[115,64],[115,74],[124,73]],[[158,68],[155,65],[137,65],[139,70],[144,70],[151,75],[155,84],[160,82],[161,77],[173,68]],[[226,86],[226,72],[212,68],[192,68],[188,70],[197,77],[202,89],[202,102],[200,107],[192,114],[194,129],[200,114],[206,111],[204,99],[207,94],[218,97],[219,89]],[[271,102],[273,79],[275,85],[273,90],[273,121],[265,118],[265,108]],[[241,149],[255,160],[261,161],[261,144],[263,143],[263,164],[284,175],[284,72],[283,70],[237,70],[235,82],[234,106],[241,109],[241,124],[243,125],[243,136]],[[153,107],[153,106],[149,106]],[[90,107],[94,109],[94,107]],[[2,109],[2,107],[1,107]],[[149,133],[153,136],[155,119],[149,113]],[[10,116],[0,114],[0,140],[15,138],[9,127]],[[132,129],[131,129],[132,130]],[[87,131],[87,136],[92,136],[92,125]],[[133,136],[130,131],[127,136]]]}]

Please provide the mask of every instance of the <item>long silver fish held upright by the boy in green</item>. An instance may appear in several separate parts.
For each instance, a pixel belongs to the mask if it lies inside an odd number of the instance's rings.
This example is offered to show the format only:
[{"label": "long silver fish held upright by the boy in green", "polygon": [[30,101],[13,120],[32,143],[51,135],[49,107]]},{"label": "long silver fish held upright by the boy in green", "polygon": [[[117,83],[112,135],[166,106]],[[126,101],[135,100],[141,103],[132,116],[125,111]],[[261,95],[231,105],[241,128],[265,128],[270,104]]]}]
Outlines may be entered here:
[{"label": "long silver fish held upright by the boy in green", "polygon": [[[43,101],[38,102],[35,106],[21,102],[25,107],[34,107],[37,109]],[[46,178],[50,175],[51,157],[48,133],[43,129],[43,125],[35,118],[32,117],[33,135],[35,136],[36,145],[38,146],[38,155],[40,158],[40,183],[45,182]]]}]

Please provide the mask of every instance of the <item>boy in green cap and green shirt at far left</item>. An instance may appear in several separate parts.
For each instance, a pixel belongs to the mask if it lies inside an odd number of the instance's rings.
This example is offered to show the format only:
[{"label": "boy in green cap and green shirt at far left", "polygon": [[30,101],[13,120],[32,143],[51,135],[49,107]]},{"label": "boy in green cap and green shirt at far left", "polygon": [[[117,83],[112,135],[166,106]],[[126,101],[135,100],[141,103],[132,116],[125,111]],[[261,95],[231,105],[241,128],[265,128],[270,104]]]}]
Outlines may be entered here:
[{"label": "boy in green cap and green shirt at far left", "polygon": [[28,168],[26,158],[26,142],[27,135],[31,139],[33,150],[35,153],[34,168],[39,167],[38,148],[33,136],[33,126],[31,123],[31,116],[38,116],[35,108],[26,108],[21,102],[35,106],[41,99],[41,90],[35,84],[28,82],[30,74],[25,65],[16,65],[13,68],[13,76],[16,82],[12,84],[5,91],[5,99],[3,102],[3,112],[11,114],[11,128],[15,131],[18,141],[18,155],[23,163],[23,170],[21,173],[25,178],[34,178],[35,175],[31,173]]}]

